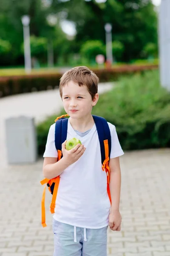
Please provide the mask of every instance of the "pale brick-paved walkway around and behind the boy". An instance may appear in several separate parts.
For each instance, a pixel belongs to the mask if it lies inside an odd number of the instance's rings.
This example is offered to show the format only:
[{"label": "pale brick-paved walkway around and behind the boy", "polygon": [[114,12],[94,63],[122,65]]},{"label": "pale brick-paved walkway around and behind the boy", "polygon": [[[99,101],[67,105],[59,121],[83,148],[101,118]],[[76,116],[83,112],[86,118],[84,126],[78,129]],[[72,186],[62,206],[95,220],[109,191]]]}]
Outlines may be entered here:
[{"label": "pale brick-paved walkway around and behind the boy", "polygon": [[[47,105],[55,93],[57,95],[57,91],[53,92],[48,101],[46,99]],[[6,104],[9,108],[6,113],[13,116],[17,104],[16,114],[27,108],[36,113],[37,106],[43,107],[41,96],[36,108],[33,108],[34,97],[30,98],[31,104],[25,95],[20,97],[17,96],[17,101],[12,97],[11,100],[10,97],[0,99],[0,109],[3,106],[5,111]],[[6,103],[2,105],[2,102]],[[22,104],[21,111],[19,102]],[[55,106],[52,107],[55,110]],[[41,112],[42,109],[39,109]],[[51,114],[50,108],[49,112]],[[43,111],[41,113],[44,114]],[[39,114],[37,122],[38,118]],[[0,128],[2,123],[1,114]],[[2,132],[3,129],[0,152]],[[170,149],[126,152],[121,157],[121,169],[122,231],[108,229],[108,256],[170,256]],[[23,166],[8,166],[6,161],[0,162],[0,256],[52,256],[52,215],[48,211],[51,195],[47,191],[48,227],[42,228],[41,179],[42,159]]]}]

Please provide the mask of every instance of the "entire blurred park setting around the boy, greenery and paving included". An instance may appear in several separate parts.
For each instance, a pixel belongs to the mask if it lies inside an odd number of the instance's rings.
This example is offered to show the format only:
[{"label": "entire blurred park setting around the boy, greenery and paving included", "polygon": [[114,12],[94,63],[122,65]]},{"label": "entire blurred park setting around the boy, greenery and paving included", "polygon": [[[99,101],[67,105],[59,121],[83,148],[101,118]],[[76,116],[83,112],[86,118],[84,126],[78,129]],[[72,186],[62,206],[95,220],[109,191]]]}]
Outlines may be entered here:
[{"label": "entire blurred park setting around the boy, greenery and paving included", "polygon": [[42,154],[65,114],[59,79],[79,65],[99,76],[93,114],[125,151],[122,231],[108,231],[108,256],[170,256],[169,12],[169,0],[0,1],[0,256],[52,255]]}]

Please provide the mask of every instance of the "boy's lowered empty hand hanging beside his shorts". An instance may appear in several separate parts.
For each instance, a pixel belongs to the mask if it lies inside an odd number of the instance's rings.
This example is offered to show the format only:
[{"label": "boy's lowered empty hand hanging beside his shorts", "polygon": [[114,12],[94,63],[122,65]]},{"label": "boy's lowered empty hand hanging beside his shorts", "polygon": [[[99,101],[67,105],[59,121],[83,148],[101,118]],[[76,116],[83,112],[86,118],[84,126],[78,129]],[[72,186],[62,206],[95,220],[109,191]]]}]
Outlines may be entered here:
[{"label": "boy's lowered empty hand hanging beside his shorts", "polygon": [[109,227],[113,231],[121,230],[122,216],[119,211],[113,211],[109,214]]}]

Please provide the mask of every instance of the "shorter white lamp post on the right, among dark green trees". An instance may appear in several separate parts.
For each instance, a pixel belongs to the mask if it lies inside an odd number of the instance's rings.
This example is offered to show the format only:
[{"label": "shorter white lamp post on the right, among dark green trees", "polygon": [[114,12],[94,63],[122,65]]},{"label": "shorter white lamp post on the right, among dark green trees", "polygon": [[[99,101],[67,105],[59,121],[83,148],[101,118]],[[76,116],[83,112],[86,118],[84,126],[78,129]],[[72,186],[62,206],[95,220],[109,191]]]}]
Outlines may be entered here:
[{"label": "shorter white lamp post on the right, among dark green trees", "polygon": [[105,24],[106,32],[106,60],[109,64],[113,63],[113,54],[112,54],[112,25],[110,23]]}]

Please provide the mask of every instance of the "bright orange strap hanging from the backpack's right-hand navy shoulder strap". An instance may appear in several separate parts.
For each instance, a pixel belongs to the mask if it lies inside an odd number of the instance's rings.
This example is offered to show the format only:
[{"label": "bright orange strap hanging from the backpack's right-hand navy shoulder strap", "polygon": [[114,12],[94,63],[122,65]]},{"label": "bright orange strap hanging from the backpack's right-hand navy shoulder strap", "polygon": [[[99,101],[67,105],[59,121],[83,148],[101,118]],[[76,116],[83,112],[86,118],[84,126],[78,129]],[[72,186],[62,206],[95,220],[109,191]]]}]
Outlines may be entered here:
[{"label": "bright orange strap hanging from the backpack's right-hand navy shoulder strap", "polygon": [[108,191],[108,196],[111,202],[111,192],[109,188],[109,183],[110,183],[110,167],[109,167],[109,145],[108,145],[108,140],[104,140],[104,145],[105,145],[105,160],[102,165],[102,170],[106,172],[107,175],[107,191]]}]

